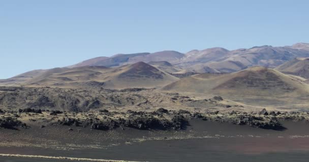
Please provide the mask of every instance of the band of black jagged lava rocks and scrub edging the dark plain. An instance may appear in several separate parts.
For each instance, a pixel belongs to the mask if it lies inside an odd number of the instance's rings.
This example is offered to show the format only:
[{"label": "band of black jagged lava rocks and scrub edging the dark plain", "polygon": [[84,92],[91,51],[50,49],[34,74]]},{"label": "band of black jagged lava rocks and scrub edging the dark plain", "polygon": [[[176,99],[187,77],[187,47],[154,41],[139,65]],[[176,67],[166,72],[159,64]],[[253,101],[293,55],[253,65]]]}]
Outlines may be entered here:
[{"label": "band of black jagged lava rocks and scrub edging the dark plain", "polygon": [[19,109],[0,110],[0,128],[3,129],[31,129],[40,127],[70,126],[69,131],[79,128],[93,130],[122,130],[132,128],[137,130],[186,130],[192,120],[215,121],[234,125],[246,125],[260,129],[284,131],[281,121],[308,121],[307,112],[280,112],[266,109],[257,113],[241,111],[220,112],[209,111],[206,113],[190,112],[187,110],[167,110],[159,108],[156,111],[127,112],[108,111],[106,109],[88,112],[68,112],[59,110]]}]

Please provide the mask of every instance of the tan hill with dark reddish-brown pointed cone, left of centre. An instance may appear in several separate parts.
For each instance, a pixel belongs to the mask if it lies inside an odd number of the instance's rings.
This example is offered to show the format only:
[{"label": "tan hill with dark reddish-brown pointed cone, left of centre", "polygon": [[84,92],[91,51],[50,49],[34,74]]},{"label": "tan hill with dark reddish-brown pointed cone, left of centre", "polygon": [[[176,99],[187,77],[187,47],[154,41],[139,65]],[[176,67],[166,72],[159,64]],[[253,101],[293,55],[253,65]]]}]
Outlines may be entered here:
[{"label": "tan hill with dark reddish-brown pointed cone, left of centre", "polygon": [[178,78],[144,62],[118,68],[83,66],[48,70],[23,83],[30,87],[63,88],[160,88]]}]

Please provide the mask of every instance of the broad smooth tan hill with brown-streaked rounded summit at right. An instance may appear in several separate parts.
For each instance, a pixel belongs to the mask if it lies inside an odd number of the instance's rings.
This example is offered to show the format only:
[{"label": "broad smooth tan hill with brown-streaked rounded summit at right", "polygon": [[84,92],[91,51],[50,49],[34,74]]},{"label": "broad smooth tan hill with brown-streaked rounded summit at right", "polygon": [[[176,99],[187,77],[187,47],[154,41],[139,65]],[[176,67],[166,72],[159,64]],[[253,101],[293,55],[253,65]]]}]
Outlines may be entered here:
[{"label": "broad smooth tan hill with brown-streaked rounded summit at right", "polygon": [[181,78],[165,91],[215,94],[255,105],[285,105],[305,102],[309,87],[279,71],[252,67],[228,74],[198,74]]}]

